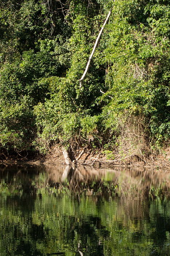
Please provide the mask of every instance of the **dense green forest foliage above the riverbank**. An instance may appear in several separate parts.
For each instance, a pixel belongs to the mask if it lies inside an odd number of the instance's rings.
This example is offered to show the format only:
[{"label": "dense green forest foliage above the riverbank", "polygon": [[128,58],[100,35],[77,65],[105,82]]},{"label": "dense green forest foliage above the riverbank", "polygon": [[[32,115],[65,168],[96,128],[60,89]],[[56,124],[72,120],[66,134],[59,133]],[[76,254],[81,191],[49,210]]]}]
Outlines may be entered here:
[{"label": "dense green forest foliage above the riverbank", "polygon": [[169,146],[169,83],[168,0],[0,0],[1,154],[153,157]]}]

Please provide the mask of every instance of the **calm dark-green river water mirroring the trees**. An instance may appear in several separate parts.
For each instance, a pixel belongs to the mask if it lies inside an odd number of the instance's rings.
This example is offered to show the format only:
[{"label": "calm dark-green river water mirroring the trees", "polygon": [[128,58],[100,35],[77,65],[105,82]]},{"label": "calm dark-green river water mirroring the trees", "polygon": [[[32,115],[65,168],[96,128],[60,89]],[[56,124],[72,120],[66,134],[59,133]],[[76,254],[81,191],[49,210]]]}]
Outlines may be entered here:
[{"label": "calm dark-green river water mirroring the trees", "polygon": [[0,256],[170,255],[170,173],[0,166]]}]

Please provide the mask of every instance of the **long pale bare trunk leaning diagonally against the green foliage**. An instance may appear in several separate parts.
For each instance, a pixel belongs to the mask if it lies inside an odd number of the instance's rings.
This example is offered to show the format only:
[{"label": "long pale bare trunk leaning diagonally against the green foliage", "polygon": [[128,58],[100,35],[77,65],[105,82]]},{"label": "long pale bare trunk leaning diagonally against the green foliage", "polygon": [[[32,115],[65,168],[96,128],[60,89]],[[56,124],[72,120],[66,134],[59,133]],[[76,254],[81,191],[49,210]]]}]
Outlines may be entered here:
[{"label": "long pale bare trunk leaning diagonally against the green foliage", "polygon": [[84,71],[84,74],[82,75],[82,78],[80,79],[80,88],[82,88],[83,80],[84,80],[84,78],[85,78],[85,76],[86,76],[86,74],[87,74],[87,72],[88,72],[88,68],[89,68],[89,66],[90,66],[91,59],[92,59],[93,54],[94,54],[94,52],[95,52],[95,49],[96,49],[96,47],[97,47],[97,45],[98,45],[98,42],[99,42],[100,36],[101,36],[101,34],[102,34],[102,31],[103,31],[103,29],[104,29],[106,23],[108,22],[108,19],[110,18],[111,11],[112,11],[112,10],[110,10],[110,11],[108,12],[107,18],[106,18],[106,20],[105,20],[105,22],[104,22],[104,24],[103,24],[103,26],[102,26],[102,28],[101,28],[101,30],[100,30],[100,32],[99,32],[99,35],[98,35],[98,37],[97,37],[97,39],[96,39],[95,45],[94,45],[93,50],[92,50],[92,52],[91,52],[91,55],[90,55],[90,57],[89,57],[89,59],[88,59],[86,69],[85,69],[85,71]]}]

